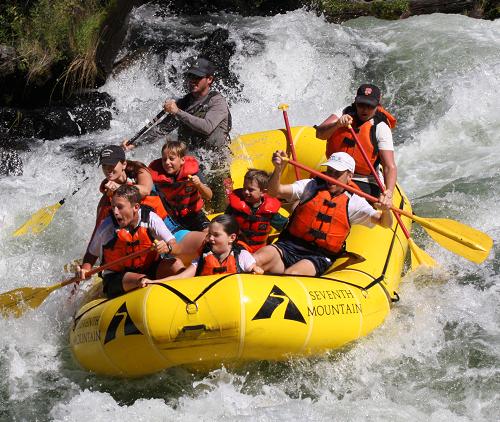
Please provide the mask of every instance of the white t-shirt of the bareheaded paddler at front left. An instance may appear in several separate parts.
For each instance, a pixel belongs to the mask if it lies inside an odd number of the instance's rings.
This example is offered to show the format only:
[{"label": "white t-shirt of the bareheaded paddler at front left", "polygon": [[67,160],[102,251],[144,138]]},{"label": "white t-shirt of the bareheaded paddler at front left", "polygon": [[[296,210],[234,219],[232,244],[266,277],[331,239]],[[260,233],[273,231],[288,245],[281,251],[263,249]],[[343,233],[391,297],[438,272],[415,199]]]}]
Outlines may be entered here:
[{"label": "white t-shirt of the bareheaded paddler at front left", "polygon": [[[136,227],[141,222],[141,209],[139,209],[139,218]],[[174,235],[167,229],[163,220],[154,212],[149,213],[149,229],[156,240],[170,242]],[[115,226],[111,217],[107,217],[97,228],[92,241],[90,242],[88,252],[94,256],[102,258],[102,247],[106,245],[115,236]]]}]

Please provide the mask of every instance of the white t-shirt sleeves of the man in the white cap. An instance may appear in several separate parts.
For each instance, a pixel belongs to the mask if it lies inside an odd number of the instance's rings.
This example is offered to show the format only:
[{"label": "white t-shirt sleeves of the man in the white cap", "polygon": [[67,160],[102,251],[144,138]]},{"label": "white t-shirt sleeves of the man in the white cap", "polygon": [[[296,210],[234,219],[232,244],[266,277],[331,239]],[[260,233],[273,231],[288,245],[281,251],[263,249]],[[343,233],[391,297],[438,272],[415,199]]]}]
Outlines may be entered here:
[{"label": "white t-shirt sleeves of the man in the white cap", "polygon": [[[303,198],[312,198],[318,191],[318,182],[316,179],[301,179],[292,183],[292,200],[301,200]],[[371,217],[377,214],[365,198],[352,194],[347,206],[347,213],[351,224],[362,224],[363,226],[373,227]]]}]

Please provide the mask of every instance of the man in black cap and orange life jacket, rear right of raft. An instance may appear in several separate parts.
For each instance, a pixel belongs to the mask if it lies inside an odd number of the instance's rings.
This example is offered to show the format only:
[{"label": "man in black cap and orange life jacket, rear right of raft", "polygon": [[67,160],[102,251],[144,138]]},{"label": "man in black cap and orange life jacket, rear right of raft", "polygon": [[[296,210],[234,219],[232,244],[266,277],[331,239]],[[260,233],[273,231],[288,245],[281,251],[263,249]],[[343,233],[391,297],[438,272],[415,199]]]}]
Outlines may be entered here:
[{"label": "man in black cap and orange life jacket, rear right of raft", "polygon": [[[379,202],[391,206],[397,179],[391,128],[396,126],[396,119],[382,107],[380,97],[380,89],[377,86],[361,85],[352,105],[332,114],[316,127],[316,137],[327,139],[327,157],[339,151],[352,155],[356,162],[353,181],[364,192],[378,196]],[[380,192],[371,175],[370,168],[348,128],[349,125],[352,125],[370,162],[379,172],[379,177],[385,184],[384,192]],[[379,171],[380,164],[383,168],[383,177]]]}]

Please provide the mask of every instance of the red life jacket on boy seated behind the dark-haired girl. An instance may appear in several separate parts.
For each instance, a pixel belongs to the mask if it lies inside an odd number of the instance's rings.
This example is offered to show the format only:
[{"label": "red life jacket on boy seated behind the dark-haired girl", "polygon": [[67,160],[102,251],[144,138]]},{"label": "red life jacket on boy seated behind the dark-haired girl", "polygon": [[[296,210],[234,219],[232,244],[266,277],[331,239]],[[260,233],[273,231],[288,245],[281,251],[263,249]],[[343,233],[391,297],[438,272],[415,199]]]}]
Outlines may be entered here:
[{"label": "red life jacket on boy seated behind the dark-haired girl", "polygon": [[243,189],[236,189],[229,194],[229,205],[234,210],[234,217],[250,247],[249,251],[253,253],[265,246],[272,229],[271,220],[281,207],[279,199],[264,194],[262,204],[254,214],[243,199]]}]

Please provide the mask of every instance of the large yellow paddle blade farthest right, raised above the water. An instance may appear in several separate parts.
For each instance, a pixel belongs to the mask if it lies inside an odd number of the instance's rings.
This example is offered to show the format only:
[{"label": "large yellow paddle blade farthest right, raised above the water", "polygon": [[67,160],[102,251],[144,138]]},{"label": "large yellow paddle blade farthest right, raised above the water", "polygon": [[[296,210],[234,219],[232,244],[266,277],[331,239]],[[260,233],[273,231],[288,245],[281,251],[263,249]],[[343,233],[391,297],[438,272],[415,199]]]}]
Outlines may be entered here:
[{"label": "large yellow paddle blade farthest right, raised above the water", "polygon": [[489,255],[493,239],[482,231],[446,218],[425,218],[425,231],[443,248],[480,264]]}]

